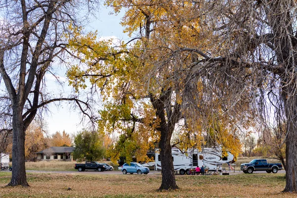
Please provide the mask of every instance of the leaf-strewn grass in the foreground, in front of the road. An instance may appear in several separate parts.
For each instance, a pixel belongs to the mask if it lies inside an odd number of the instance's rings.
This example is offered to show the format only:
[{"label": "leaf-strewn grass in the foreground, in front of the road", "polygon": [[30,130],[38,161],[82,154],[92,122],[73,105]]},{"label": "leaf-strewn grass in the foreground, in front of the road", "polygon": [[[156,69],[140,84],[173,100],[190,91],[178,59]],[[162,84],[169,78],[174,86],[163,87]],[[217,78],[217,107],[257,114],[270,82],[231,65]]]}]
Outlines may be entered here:
[{"label": "leaf-strewn grass in the foreground, in front of the road", "polygon": [[180,189],[162,192],[160,175],[27,174],[29,188],[5,187],[10,177],[0,172],[1,198],[296,198],[281,193],[284,174],[177,175]]}]

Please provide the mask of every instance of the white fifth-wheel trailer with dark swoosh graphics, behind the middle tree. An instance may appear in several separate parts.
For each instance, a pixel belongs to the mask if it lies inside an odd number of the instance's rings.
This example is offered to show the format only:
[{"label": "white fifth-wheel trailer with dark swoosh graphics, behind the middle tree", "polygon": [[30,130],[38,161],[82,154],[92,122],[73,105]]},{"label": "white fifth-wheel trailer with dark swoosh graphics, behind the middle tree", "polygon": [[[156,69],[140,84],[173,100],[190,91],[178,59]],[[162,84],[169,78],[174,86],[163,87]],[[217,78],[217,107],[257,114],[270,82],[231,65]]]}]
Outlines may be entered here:
[{"label": "white fifth-wheel trailer with dark swoosh graphics, behind the middle tree", "polygon": [[[208,171],[220,171],[223,163],[232,163],[234,156],[227,152],[228,156],[222,155],[220,148],[203,148],[201,151],[198,149],[188,149],[187,153],[183,153],[178,148],[171,148],[171,155],[173,160],[173,167],[175,171],[179,171],[181,175],[185,173],[190,174],[190,169],[197,166],[204,165]],[[162,169],[159,148],[155,148],[155,170]]]}]

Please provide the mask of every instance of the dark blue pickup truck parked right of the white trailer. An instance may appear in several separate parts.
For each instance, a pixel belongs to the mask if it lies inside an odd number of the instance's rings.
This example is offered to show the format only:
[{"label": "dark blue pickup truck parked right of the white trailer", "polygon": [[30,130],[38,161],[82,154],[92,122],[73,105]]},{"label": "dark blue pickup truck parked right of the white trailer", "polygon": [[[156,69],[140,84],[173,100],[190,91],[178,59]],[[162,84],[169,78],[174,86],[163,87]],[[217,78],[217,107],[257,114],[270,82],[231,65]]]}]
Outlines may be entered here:
[{"label": "dark blue pickup truck parked right of the white trailer", "polygon": [[281,163],[267,163],[266,159],[253,159],[249,163],[240,165],[240,170],[244,173],[252,173],[253,171],[266,171],[267,173],[277,173],[282,170]]}]

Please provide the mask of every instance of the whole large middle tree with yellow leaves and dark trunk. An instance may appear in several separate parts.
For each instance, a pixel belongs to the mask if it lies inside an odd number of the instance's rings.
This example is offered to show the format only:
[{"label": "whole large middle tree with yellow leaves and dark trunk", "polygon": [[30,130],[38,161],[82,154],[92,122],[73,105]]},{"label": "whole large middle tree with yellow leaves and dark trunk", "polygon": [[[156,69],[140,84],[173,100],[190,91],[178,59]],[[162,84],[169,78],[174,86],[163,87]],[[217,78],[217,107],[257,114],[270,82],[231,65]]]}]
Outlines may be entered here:
[{"label": "whole large middle tree with yellow leaves and dark trunk", "polygon": [[[86,65],[74,65],[68,71],[70,84],[77,90],[85,88],[85,79],[89,78],[102,90],[104,109],[100,111],[99,129],[102,133],[120,133],[112,148],[113,160],[120,154],[125,154],[127,161],[133,154],[137,160],[144,160],[147,150],[158,143],[160,190],[177,189],[170,143],[178,125],[182,123],[180,133],[187,134],[184,148],[199,148],[203,141],[199,137],[211,129],[214,140],[220,139],[226,150],[236,151],[239,141],[234,129],[251,117],[249,92],[242,93],[245,86],[239,86],[242,96],[237,99],[242,103],[229,103],[233,78],[224,72],[220,77],[222,73],[208,69],[208,60],[222,59],[198,49],[214,50],[207,48],[213,34],[207,32],[208,27],[202,32],[204,18],[197,14],[197,2],[115,0],[107,4],[115,12],[127,9],[122,25],[130,35],[139,29],[139,37],[132,39],[132,45],[110,47],[112,41],[97,42],[96,33],[85,37],[78,34],[70,46]],[[221,113],[217,115],[218,111]]]}]

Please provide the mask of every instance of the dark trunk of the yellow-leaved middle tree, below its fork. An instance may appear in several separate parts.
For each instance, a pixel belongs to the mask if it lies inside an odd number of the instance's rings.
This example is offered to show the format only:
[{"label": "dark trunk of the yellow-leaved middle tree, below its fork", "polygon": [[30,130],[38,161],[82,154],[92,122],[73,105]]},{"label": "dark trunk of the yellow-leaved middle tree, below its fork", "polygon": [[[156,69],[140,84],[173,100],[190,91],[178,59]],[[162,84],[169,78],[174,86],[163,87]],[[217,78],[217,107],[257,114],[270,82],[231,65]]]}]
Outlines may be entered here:
[{"label": "dark trunk of the yellow-leaved middle tree, below its fork", "polygon": [[161,138],[159,143],[160,157],[161,157],[161,173],[162,173],[162,184],[159,190],[178,189],[175,182],[173,161],[171,155],[170,139],[171,134],[167,130],[161,131]]}]

